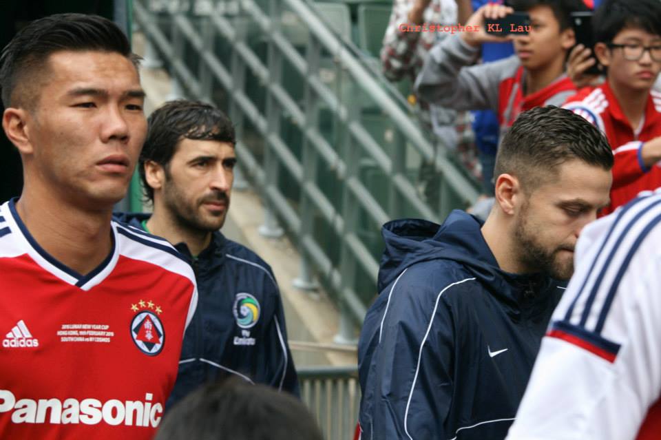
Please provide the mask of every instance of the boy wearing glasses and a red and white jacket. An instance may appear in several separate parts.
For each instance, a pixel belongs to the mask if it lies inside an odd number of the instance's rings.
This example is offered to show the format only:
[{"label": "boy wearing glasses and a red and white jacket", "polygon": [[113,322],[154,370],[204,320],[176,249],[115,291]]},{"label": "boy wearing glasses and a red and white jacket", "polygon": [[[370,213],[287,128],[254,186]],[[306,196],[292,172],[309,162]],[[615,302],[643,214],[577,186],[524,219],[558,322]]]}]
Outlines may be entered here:
[{"label": "boy wearing glasses and a red and white jacket", "polygon": [[602,215],[661,186],[661,2],[606,0],[594,14],[594,52],[602,85],[581,90],[565,108],[599,127],[613,148],[611,204]]}]

